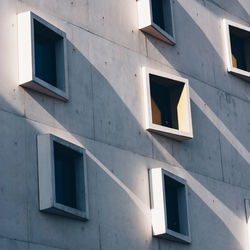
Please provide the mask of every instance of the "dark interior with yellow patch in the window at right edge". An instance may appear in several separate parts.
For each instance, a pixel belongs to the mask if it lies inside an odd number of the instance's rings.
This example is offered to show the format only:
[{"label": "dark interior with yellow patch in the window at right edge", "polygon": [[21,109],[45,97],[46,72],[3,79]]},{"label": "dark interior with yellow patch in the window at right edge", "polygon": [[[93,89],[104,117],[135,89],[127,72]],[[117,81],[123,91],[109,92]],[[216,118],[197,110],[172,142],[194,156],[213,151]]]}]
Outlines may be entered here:
[{"label": "dark interior with yellow patch in the window at right edge", "polygon": [[250,71],[250,33],[229,26],[233,66]]}]

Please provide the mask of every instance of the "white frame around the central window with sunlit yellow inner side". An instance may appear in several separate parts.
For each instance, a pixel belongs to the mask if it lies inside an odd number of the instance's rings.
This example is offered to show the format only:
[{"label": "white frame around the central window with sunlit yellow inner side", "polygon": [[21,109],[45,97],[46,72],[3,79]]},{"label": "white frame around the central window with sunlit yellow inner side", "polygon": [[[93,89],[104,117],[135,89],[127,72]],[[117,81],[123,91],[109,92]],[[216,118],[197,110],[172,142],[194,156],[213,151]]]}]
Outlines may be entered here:
[{"label": "white frame around the central window with sunlit yellow inner side", "polygon": [[[192,116],[190,107],[189,81],[186,78],[175,76],[173,74],[143,67],[143,82],[144,82],[144,100],[145,100],[145,128],[146,130],[156,132],[172,139],[183,141],[193,138]],[[184,84],[179,102],[178,123],[179,129],[169,128],[152,122],[152,107],[150,93],[150,77],[156,75],[166,79],[171,79]]]}]

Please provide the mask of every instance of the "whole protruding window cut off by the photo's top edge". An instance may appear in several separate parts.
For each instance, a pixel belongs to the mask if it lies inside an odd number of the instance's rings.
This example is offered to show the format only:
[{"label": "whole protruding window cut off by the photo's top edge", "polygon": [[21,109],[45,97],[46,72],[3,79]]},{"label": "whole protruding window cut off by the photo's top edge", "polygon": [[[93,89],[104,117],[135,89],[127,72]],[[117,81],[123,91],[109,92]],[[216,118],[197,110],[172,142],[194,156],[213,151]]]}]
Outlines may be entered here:
[{"label": "whole protruding window cut off by the photo's top edge", "polygon": [[172,0],[138,0],[139,29],[175,44]]}]

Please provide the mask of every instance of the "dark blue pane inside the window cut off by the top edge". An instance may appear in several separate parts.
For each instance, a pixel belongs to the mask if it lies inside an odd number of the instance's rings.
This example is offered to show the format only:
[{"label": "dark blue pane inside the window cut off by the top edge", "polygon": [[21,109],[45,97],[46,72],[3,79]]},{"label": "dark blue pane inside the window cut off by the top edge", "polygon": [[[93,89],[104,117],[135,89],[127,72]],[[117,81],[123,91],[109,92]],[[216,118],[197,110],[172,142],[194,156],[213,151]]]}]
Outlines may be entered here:
[{"label": "dark blue pane inside the window cut off by the top edge", "polygon": [[151,0],[153,21],[173,36],[170,0]]}]

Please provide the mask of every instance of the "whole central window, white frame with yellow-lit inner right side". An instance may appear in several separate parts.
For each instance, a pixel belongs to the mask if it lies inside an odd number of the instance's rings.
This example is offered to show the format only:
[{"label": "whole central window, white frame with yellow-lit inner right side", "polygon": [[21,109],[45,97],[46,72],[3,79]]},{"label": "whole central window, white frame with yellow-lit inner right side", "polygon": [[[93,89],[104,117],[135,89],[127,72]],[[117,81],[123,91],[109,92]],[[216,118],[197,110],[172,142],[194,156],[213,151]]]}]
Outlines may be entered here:
[{"label": "whole central window, white frame with yellow-lit inner right side", "polygon": [[176,140],[193,138],[188,80],[143,68],[146,129]]}]

